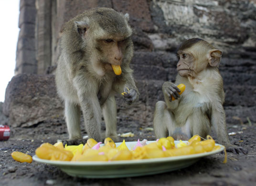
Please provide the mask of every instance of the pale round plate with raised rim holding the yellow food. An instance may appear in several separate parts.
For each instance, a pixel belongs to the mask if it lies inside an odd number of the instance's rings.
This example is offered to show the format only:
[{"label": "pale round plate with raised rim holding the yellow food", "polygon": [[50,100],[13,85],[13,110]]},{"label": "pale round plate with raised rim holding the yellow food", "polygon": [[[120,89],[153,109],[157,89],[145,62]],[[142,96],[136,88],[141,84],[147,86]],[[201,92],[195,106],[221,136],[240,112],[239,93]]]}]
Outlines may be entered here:
[{"label": "pale round plate with raised rim holding the yellow food", "polygon": [[[155,141],[148,141],[147,144],[152,142]],[[175,144],[177,143],[179,143],[179,141],[175,141]],[[116,143],[117,146],[120,144],[121,143]],[[129,149],[132,149],[136,144],[137,142],[126,142]],[[213,155],[223,151],[224,146],[220,146],[220,149],[207,153],[142,160],[112,162],[67,162],[40,159],[37,157],[37,155],[33,156],[33,160],[40,163],[58,166],[69,176],[86,178],[131,177],[154,175],[190,166],[198,161],[201,157]]]}]

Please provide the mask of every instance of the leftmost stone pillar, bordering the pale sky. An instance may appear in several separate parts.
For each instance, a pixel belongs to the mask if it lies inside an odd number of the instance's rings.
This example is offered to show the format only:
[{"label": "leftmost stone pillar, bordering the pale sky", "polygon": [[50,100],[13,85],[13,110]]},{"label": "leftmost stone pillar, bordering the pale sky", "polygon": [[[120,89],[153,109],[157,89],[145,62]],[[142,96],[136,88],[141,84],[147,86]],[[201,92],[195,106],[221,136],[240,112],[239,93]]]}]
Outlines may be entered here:
[{"label": "leftmost stone pillar, bordering the pale sky", "polygon": [[37,73],[35,57],[35,0],[20,1],[19,40],[16,53],[15,75]]}]

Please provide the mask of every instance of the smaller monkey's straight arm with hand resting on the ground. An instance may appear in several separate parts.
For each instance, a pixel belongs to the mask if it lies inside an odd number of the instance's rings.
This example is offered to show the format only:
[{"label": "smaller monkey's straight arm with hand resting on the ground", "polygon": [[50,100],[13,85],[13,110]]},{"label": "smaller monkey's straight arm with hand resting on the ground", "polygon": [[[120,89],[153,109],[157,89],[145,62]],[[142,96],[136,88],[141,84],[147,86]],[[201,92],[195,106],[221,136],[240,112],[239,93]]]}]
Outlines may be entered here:
[{"label": "smaller monkey's straight arm with hand resting on the ground", "polygon": [[221,103],[215,103],[212,106],[211,124],[213,124],[214,130],[217,134],[218,142],[226,147],[227,152],[232,152],[234,154],[248,153],[248,151],[243,147],[230,144],[226,129],[225,112]]}]

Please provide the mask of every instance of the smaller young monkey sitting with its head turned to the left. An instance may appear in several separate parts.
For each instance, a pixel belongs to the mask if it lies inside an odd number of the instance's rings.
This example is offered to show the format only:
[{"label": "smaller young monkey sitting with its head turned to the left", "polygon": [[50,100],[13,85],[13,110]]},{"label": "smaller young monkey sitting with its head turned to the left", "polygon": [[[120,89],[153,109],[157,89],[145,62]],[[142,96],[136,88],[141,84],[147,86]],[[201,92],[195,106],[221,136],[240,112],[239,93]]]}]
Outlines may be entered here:
[{"label": "smaller young monkey sitting with its head turned to the left", "polygon": [[[170,135],[188,140],[198,134],[205,138],[213,125],[218,142],[225,145],[227,151],[246,154],[245,149],[231,145],[228,139],[223,108],[223,79],[218,70],[222,52],[208,42],[194,38],[181,44],[177,56],[176,82],[162,85],[165,102],[156,103],[156,137]],[[176,86],[180,83],[186,85],[181,95]],[[171,101],[171,96],[176,100]]]}]

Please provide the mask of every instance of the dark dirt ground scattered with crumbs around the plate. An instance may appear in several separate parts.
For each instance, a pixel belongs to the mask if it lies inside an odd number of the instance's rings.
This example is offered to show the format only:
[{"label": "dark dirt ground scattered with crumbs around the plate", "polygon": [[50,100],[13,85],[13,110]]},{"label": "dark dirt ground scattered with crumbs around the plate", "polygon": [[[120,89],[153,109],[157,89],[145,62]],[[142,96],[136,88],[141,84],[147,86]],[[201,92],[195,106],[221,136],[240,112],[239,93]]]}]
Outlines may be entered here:
[{"label": "dark dirt ground scattered with crumbs around the plate", "polygon": [[[155,140],[151,126],[141,127],[133,121],[118,121],[118,133],[132,132],[134,137],[120,137],[128,141],[138,138]],[[102,130],[105,127],[102,125]],[[195,164],[180,170],[139,177],[115,179],[89,179],[68,176],[53,165],[33,161],[16,162],[13,151],[35,155],[35,149],[42,143],[54,144],[57,139],[67,139],[64,121],[48,121],[29,128],[11,128],[8,141],[0,141],[0,185],[1,186],[255,186],[256,185],[256,124],[228,124],[232,144],[243,146],[248,154],[215,154],[201,158]],[[82,129],[86,135],[85,129]],[[216,136],[213,134],[213,138]],[[107,171],[107,170],[106,170]]]}]

